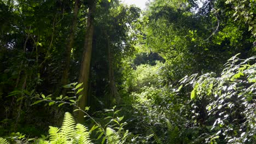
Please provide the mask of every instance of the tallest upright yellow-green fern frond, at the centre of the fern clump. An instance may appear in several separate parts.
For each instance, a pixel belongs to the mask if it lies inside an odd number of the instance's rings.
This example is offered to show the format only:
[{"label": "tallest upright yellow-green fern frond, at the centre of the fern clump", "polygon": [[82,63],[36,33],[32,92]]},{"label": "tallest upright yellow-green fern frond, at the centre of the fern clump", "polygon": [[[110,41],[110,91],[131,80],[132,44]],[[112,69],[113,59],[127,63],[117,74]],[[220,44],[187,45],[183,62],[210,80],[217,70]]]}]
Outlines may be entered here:
[{"label": "tallest upright yellow-green fern frond, at the centre of the fern clump", "polygon": [[75,121],[69,112],[65,113],[60,133],[67,141],[73,140],[75,137]]}]

